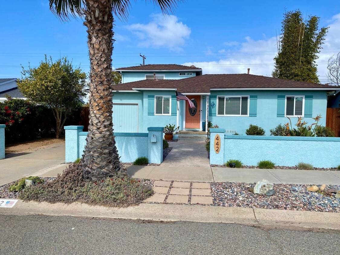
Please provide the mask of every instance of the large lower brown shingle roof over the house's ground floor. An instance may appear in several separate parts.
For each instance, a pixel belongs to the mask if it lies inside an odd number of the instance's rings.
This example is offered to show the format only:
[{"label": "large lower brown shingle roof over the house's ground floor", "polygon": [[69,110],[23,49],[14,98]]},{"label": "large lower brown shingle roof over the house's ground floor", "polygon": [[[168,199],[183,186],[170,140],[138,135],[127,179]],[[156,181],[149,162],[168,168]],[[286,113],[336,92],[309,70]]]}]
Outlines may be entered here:
[{"label": "large lower brown shingle roof over the house's ground floor", "polygon": [[180,80],[142,80],[115,85],[115,90],[132,90],[132,88],[177,88],[181,93],[209,93],[210,89],[306,89],[328,88],[334,86],[308,82],[297,82],[253,74],[204,74]]}]

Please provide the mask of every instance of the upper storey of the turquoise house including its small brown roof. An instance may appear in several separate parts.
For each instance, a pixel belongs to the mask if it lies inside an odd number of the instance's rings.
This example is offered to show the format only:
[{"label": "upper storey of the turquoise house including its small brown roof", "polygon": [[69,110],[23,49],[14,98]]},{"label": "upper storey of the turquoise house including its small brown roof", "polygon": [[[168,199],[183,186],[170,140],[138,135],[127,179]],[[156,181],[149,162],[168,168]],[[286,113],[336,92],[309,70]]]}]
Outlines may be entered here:
[{"label": "upper storey of the turquoise house including its small brown roof", "polygon": [[115,71],[122,75],[122,83],[140,80],[178,80],[202,75],[201,68],[176,64],[122,67]]}]

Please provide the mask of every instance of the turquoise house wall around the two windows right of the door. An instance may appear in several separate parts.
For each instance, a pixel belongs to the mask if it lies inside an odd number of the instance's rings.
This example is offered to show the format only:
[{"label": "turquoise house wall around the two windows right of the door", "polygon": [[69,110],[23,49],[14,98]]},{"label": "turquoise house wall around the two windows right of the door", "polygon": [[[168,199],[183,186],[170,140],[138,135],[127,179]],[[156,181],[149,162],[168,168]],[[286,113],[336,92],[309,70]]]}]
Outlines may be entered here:
[{"label": "turquoise house wall around the two windows right of the door", "polygon": [[[258,125],[270,135],[270,129],[275,128],[278,124],[287,123],[287,117],[277,117],[277,96],[313,96],[312,116],[321,114],[320,125],[326,124],[327,95],[326,91],[292,91],[292,90],[240,90],[240,91],[223,91],[211,90],[211,96],[257,96],[256,117],[227,117],[227,116],[209,116],[213,125],[217,124],[220,128],[226,130],[236,130],[237,133],[245,135],[245,130],[250,124]],[[211,101],[210,101],[211,102]],[[217,108],[217,100],[214,101]],[[292,124],[296,123],[296,118],[291,118]],[[311,118],[304,118],[308,123],[313,123]]]}]

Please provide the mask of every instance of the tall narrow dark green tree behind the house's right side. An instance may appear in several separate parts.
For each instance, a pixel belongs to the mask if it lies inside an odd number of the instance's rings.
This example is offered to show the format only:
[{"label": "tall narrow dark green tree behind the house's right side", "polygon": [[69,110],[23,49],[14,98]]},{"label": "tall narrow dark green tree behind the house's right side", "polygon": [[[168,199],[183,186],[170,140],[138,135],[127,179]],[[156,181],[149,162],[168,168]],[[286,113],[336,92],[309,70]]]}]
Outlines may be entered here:
[{"label": "tall narrow dark green tree behind the house's right side", "polygon": [[303,20],[300,10],[284,14],[273,77],[320,83],[315,61],[328,28],[319,29],[319,21],[317,16]]}]

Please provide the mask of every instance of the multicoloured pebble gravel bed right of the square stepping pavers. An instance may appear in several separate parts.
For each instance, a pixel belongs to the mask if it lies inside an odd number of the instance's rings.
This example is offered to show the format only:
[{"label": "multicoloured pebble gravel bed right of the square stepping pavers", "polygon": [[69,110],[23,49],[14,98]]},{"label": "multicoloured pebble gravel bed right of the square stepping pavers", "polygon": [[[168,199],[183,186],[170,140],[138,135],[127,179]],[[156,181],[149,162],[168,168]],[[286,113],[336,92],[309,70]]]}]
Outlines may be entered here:
[{"label": "multicoloured pebble gravel bed right of the square stepping pavers", "polygon": [[[340,212],[340,199],[307,190],[309,185],[274,184],[271,197],[248,191],[255,183],[211,183],[215,206],[285,209],[298,211]],[[328,185],[340,190],[340,185]]]}]

